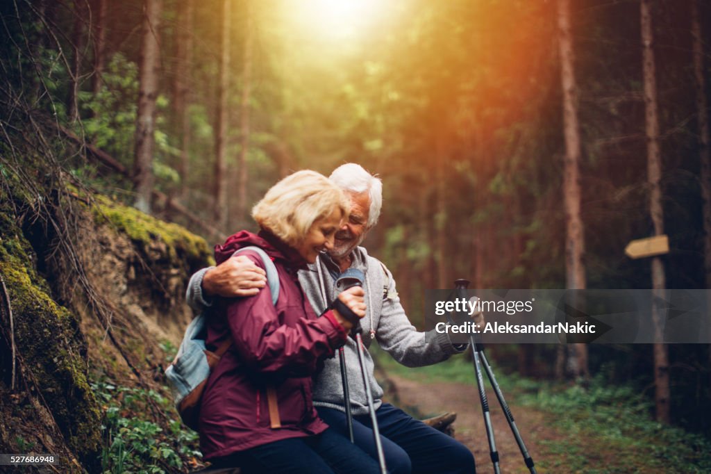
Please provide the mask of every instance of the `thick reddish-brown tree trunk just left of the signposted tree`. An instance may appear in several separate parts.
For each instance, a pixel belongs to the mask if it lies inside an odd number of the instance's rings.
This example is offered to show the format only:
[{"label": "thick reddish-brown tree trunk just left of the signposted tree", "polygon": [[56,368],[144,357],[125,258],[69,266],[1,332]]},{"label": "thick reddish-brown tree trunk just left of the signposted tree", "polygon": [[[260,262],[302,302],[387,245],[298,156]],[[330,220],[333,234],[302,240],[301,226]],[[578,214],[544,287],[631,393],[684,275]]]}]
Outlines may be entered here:
[{"label": "thick reddish-brown tree trunk just left of the signposted tree", "polygon": [[[565,202],[565,283],[570,290],[586,287],[584,229],[580,218],[580,132],[577,110],[573,42],[570,33],[570,0],[558,0],[558,46],[560,48],[560,78],[563,88],[563,200]],[[589,377],[587,346],[574,344],[574,358],[570,360],[573,376]]]}]

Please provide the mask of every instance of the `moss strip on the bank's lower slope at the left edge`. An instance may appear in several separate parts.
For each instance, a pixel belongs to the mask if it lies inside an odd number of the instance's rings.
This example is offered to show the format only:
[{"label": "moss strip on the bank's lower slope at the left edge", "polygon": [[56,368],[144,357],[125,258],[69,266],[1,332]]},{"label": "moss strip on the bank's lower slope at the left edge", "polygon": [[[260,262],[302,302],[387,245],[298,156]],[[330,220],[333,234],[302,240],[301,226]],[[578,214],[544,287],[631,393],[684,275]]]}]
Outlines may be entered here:
[{"label": "moss strip on the bank's lower slope at the left edge", "polygon": [[46,281],[34,270],[31,246],[7,206],[0,208],[0,238],[0,274],[14,315],[18,353],[70,448],[80,458],[95,458],[101,414],[80,355],[86,341],[78,321],[48,294]]}]

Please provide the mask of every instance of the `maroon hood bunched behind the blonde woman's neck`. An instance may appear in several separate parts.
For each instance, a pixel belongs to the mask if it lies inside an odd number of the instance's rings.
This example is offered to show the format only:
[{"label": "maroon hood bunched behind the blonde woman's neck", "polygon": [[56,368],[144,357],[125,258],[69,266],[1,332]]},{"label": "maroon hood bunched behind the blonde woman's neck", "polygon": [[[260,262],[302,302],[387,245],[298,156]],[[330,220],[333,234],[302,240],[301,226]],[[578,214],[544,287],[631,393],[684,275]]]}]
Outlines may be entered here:
[{"label": "maroon hood bunched behind the blonde woman's neck", "polygon": [[264,229],[258,234],[239,231],[229,236],[225,243],[215,246],[215,262],[220,265],[240,248],[250,246],[261,248],[272,260],[281,260],[284,265],[294,270],[306,268],[306,260],[295,248],[288,246],[279,237]]}]

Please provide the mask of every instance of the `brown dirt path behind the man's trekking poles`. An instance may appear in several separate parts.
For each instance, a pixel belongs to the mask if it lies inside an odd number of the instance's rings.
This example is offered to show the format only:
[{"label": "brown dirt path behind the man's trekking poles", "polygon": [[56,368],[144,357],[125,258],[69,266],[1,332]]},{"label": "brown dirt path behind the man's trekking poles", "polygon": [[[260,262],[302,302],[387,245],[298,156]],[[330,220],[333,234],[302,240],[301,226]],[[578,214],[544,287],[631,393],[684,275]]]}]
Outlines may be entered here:
[{"label": "brown dirt path behind the man's trekking poles", "polygon": [[[422,413],[428,415],[441,414],[444,411],[455,411],[457,414],[454,422],[456,439],[466,444],[471,449],[471,452],[474,453],[478,473],[493,472],[486,441],[486,428],[481,414],[481,404],[479,403],[479,392],[476,386],[456,382],[426,384],[394,374],[389,374],[389,377],[397,386],[397,394],[400,396],[402,405],[417,406]],[[496,436],[496,448],[501,459],[501,472],[528,473],[528,468],[523,463],[523,456],[518,449],[513,434],[511,434],[496,395],[491,391],[487,392],[487,396],[491,409],[491,421]],[[558,433],[550,426],[547,426],[542,414],[516,406],[506,394],[504,396],[506,396],[506,401],[513,413],[516,426],[518,426],[526,448],[537,465],[542,460],[541,453],[550,450],[550,448],[542,448],[540,441],[569,442],[569,440],[565,440],[565,436],[562,433]],[[555,465],[555,463],[550,462],[547,464]],[[539,471],[548,473],[565,472],[565,470],[550,469]]]}]

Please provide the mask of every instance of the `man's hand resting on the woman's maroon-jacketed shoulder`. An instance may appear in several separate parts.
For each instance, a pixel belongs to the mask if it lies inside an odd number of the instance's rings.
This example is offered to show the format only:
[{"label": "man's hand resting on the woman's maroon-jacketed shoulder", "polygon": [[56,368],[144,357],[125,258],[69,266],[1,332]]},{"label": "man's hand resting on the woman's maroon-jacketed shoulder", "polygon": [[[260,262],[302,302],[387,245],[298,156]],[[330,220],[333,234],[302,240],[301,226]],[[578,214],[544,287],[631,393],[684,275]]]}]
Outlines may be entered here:
[{"label": "man's hand resting on the woman's maroon-jacketed shoulder", "polygon": [[230,257],[203,276],[207,296],[252,296],[267,284],[267,273],[243,255]]}]

